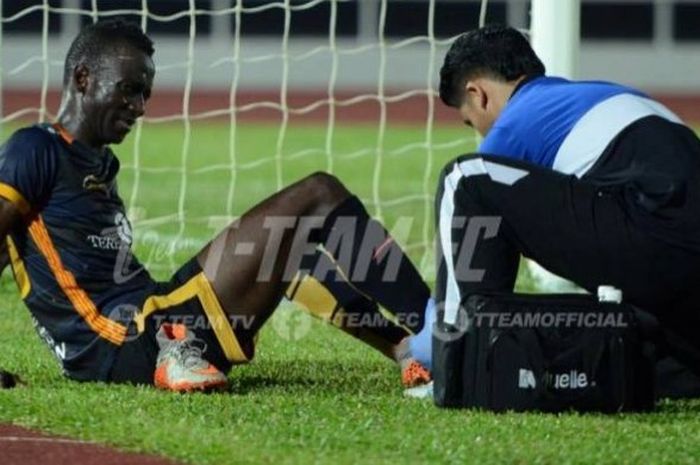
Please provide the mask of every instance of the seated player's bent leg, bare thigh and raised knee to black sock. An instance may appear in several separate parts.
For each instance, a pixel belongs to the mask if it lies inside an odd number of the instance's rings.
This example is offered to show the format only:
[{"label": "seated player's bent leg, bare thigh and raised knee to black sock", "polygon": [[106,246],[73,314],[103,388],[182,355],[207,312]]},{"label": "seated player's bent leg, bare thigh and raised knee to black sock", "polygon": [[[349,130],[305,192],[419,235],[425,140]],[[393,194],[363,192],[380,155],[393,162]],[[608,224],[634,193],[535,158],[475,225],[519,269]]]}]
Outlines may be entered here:
[{"label": "seated player's bent leg, bare thigh and raised knee to black sock", "polygon": [[[253,317],[249,327],[240,329],[251,337],[300,278],[303,257],[317,253],[317,245],[324,246],[365,300],[411,330],[422,326],[428,287],[386,230],[327,174],[309,176],[256,205],[207,245],[198,260],[226,313]],[[320,282],[334,276],[328,273]]]}]

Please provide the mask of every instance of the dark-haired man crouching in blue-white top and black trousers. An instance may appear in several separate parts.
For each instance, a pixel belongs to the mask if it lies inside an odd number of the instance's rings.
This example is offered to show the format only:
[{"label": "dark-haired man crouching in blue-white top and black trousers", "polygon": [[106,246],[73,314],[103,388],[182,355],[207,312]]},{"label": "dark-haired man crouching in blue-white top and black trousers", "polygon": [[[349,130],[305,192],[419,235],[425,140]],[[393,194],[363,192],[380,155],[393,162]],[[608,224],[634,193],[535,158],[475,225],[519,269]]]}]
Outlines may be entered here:
[{"label": "dark-haired man crouching in blue-white top and black trousers", "polygon": [[[660,320],[671,353],[700,370],[695,133],[638,90],[545,76],[525,37],[503,26],[453,43],[440,98],[483,136],[479,153],[448,163],[439,181],[445,312],[475,292],[511,292],[522,254],[588,291],[621,289]],[[412,342],[425,364],[428,326]]]}]

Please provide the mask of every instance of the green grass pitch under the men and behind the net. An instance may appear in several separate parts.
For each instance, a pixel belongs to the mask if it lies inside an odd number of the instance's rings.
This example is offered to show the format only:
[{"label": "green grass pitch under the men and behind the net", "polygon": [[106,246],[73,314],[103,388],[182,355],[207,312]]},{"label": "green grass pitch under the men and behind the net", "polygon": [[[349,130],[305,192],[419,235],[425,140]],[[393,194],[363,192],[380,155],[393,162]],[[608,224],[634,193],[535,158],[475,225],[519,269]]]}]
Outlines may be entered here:
[{"label": "green grass pitch under the men and behind the net", "polygon": [[[137,251],[159,278],[192,255],[222,219],[240,214],[277,188],[276,126],[239,127],[238,170],[232,178],[227,127],[197,125],[180,210],[181,129],[148,126],[140,143],[139,166],[146,169],[139,174],[132,210]],[[283,183],[328,167],[325,137],[325,128],[289,128],[280,150]],[[388,202],[381,213],[390,227],[399,217],[415,218],[405,243],[429,275],[421,196],[432,193],[444,162],[469,151],[473,140],[461,128],[436,129],[433,142],[445,148],[435,149],[432,166],[427,166],[425,148],[411,148],[425,137],[423,127],[388,128],[380,198]],[[450,142],[455,144],[446,147]],[[376,146],[377,128],[367,126],[338,127],[331,147],[334,172],[370,201]],[[127,203],[136,179],[130,168],[133,147],[131,136],[117,150],[124,165],[120,189]],[[305,155],[305,150],[316,152]],[[206,170],[212,165],[221,168]],[[176,169],[158,171],[168,167]],[[430,192],[424,190],[426,173]],[[521,278],[521,288],[532,286],[527,276]],[[371,349],[288,307],[263,330],[254,362],[231,372],[230,392],[183,396],[73,383],[62,379],[34,334],[7,272],[0,292],[0,366],[21,373],[28,382],[0,391],[0,422],[193,464],[700,462],[700,401],[664,402],[653,414],[612,416],[439,410],[429,401],[403,398],[397,370]]]}]

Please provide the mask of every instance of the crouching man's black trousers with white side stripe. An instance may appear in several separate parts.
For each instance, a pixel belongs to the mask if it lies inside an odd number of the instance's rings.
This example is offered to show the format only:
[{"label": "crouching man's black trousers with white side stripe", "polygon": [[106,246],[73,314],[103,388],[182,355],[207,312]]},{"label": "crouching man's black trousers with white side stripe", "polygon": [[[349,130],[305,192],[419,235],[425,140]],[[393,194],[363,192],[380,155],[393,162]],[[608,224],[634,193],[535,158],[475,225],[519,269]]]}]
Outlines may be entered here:
[{"label": "crouching man's black trousers with white side stripe", "polygon": [[488,155],[450,162],[436,196],[438,303],[447,311],[475,292],[512,291],[522,254],[590,292],[621,289],[700,368],[698,188],[650,171],[595,172],[577,178]]}]

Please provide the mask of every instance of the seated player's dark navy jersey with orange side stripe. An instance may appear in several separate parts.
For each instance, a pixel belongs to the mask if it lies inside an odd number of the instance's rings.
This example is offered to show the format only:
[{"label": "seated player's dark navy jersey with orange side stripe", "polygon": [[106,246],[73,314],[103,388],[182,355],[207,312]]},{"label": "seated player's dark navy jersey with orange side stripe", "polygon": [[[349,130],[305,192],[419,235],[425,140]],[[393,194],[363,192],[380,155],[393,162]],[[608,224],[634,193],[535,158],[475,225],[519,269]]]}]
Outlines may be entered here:
[{"label": "seated player's dark navy jersey with orange side stripe", "polygon": [[24,220],[8,236],[20,294],[75,379],[106,379],[127,333],[119,302],[152,283],[131,255],[118,171],[111,150],[58,126],[21,129],[0,149],[0,196]]}]

